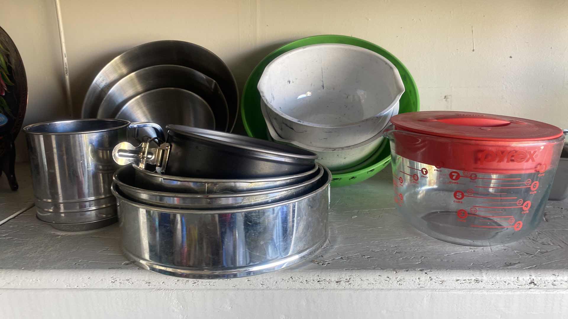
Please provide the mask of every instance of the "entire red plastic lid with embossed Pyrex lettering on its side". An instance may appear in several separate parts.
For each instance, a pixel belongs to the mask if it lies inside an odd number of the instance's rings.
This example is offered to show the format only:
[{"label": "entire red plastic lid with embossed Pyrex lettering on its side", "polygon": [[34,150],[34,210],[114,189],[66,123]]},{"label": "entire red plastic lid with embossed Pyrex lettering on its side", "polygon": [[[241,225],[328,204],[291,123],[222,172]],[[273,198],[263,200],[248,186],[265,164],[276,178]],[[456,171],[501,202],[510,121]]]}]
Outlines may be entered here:
[{"label": "entire red plastic lid with embossed Pyrex lettering on its side", "polygon": [[556,169],[562,130],[546,123],[473,112],[427,111],[391,118],[395,153],[412,161],[488,174]]}]

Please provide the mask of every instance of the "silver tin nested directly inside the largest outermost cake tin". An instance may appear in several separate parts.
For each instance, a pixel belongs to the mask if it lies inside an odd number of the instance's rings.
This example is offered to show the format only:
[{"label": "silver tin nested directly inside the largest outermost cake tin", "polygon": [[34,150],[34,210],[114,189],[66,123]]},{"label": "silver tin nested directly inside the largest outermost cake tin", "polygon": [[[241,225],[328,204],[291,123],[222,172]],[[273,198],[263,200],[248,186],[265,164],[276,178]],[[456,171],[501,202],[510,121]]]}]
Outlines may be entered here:
[{"label": "silver tin nested directly inside the largest outermost cake tin", "polygon": [[114,184],[120,187],[127,198],[155,207],[176,209],[243,208],[281,202],[309,192],[324,171],[320,166],[319,173],[305,182],[270,190],[225,194],[188,194],[152,191],[136,187],[134,170],[134,167],[130,165],[121,167],[112,178]]}]

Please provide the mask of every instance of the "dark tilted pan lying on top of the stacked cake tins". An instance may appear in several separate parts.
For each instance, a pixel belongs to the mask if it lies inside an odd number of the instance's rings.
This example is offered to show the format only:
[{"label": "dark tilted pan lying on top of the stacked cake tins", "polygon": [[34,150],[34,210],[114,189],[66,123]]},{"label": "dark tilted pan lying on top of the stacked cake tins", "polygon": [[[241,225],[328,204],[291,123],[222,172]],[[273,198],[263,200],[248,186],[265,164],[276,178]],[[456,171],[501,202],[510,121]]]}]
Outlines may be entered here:
[{"label": "dark tilted pan lying on top of the stacked cake tins", "polygon": [[311,170],[316,154],[243,135],[167,125],[168,163],[162,172],[197,178],[266,178]]}]

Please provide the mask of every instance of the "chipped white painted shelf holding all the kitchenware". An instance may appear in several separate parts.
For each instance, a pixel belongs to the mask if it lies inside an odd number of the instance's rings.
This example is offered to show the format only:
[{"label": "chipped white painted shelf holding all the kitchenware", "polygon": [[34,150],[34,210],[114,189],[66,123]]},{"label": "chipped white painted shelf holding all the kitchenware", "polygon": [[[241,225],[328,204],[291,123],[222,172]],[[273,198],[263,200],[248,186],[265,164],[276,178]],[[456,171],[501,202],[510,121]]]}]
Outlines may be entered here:
[{"label": "chipped white painted shelf holding all the kitchenware", "polygon": [[[29,168],[22,164],[17,171],[19,191],[0,182],[0,219],[32,202]],[[390,166],[360,184],[332,188],[331,195],[329,241],[317,254],[269,274],[224,280],[142,270],[123,257],[118,224],[66,233],[41,223],[32,208],[0,226],[0,303],[9,305],[9,318],[100,318],[109,311],[121,318],[239,317],[250,312],[329,318],[353,314],[356,308],[337,308],[344,298],[349,307],[359,307],[359,318],[376,318],[378,309],[385,317],[400,318],[444,317],[470,309],[461,318],[486,318],[494,314],[491,307],[500,307],[501,318],[530,312],[568,316],[568,202],[549,202],[545,221],[522,241],[466,247],[435,240],[402,220],[392,201]],[[136,305],[128,303],[129,296],[138,300]],[[51,309],[61,298],[67,308],[47,314],[21,307],[33,300]],[[84,298],[104,305],[82,313],[93,305]],[[269,307],[260,310],[254,298]],[[446,307],[429,308],[432,303]],[[212,312],[201,309],[213,306]],[[487,311],[478,312],[483,309]],[[285,315],[277,316],[281,313]]]}]

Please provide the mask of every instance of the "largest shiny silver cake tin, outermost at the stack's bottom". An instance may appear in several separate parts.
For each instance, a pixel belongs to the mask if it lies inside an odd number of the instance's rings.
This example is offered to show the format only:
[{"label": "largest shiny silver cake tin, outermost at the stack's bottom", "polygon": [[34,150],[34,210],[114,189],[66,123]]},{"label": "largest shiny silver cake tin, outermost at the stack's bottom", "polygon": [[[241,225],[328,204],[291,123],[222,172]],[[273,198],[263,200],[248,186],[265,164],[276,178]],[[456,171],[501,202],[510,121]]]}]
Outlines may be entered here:
[{"label": "largest shiny silver cake tin, outermost at the stack's bottom", "polygon": [[122,249],[140,267],[195,279],[262,274],[303,261],[328,235],[329,183],[309,194],[240,209],[185,210],[133,202],[114,185]]}]

